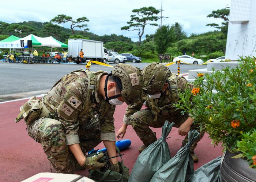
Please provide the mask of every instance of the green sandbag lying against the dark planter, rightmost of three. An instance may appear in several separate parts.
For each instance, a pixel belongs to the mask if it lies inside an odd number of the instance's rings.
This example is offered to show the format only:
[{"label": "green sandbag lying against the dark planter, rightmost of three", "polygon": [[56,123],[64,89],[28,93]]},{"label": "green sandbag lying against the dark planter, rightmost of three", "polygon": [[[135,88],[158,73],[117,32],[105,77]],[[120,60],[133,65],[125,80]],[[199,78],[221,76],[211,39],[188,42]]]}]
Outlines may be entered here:
[{"label": "green sandbag lying against the dark planter, rightmost of three", "polygon": [[219,182],[219,171],[221,167],[221,158],[217,157],[205,165],[199,167],[195,174],[189,179],[189,182]]}]

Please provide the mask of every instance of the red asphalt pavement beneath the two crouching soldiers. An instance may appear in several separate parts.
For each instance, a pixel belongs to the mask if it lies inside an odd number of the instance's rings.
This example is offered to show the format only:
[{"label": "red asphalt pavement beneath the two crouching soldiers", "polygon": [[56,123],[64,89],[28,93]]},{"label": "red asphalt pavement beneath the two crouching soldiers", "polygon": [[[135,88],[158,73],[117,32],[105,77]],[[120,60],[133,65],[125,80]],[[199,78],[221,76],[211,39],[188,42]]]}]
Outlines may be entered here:
[{"label": "red asphalt pavement beneath the two crouching soldiers", "polygon": [[[19,113],[19,107],[26,100],[0,104],[0,181],[22,181],[37,173],[50,172],[50,162],[46,158],[41,144],[36,143],[29,137],[26,131],[26,124],[23,120],[15,123],[14,119]],[[116,107],[114,113],[116,132],[122,126],[123,116],[127,105],[123,104]],[[143,106],[144,107],[144,106]],[[157,132],[157,138],[161,137],[161,128],[153,128]],[[178,129],[173,128],[169,134],[167,143],[172,157],[181,147],[184,137],[178,135]],[[132,167],[140,154],[138,148],[142,145],[139,137],[131,126],[127,128],[124,139],[130,139],[132,145],[122,151],[124,164],[131,173]],[[118,140],[118,139],[117,139]],[[103,143],[95,149],[103,148]],[[199,162],[194,164],[195,170],[222,155],[221,146],[212,146],[208,134],[198,143],[195,153],[199,157]],[[52,168],[52,172],[55,172]],[[76,174],[88,176],[88,171],[76,171]]]}]

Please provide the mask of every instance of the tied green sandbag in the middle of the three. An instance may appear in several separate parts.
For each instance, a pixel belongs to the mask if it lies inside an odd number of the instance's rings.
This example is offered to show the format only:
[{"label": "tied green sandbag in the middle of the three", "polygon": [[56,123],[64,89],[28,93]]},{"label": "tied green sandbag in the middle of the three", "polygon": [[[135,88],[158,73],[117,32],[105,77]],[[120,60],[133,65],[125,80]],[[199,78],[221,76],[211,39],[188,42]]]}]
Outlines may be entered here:
[{"label": "tied green sandbag in the middle of the three", "polygon": [[188,132],[188,143],[178,153],[165,163],[151,179],[151,182],[175,181],[187,182],[194,174],[194,162],[190,155],[190,146],[199,138],[199,132],[190,130]]}]

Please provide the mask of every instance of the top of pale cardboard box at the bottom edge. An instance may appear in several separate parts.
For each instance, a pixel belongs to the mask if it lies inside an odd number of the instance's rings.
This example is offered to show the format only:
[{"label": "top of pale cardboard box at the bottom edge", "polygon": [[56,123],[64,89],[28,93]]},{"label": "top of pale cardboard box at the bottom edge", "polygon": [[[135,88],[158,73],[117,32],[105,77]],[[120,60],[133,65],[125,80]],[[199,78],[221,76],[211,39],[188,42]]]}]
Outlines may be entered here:
[{"label": "top of pale cardboard box at the bottom edge", "polygon": [[78,174],[38,173],[22,182],[94,182]]}]

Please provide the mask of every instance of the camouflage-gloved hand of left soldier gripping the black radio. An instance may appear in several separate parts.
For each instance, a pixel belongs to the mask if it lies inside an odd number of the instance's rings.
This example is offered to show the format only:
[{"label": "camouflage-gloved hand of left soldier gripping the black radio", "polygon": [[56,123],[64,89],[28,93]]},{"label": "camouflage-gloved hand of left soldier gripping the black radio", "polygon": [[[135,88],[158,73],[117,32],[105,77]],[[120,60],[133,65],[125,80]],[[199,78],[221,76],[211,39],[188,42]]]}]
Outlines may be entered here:
[{"label": "camouflage-gloved hand of left soldier gripping the black radio", "polygon": [[98,155],[86,157],[82,167],[85,167],[86,169],[98,169],[100,167],[105,166],[106,162],[98,162],[98,160],[101,159],[103,156],[104,154],[100,153]]}]

